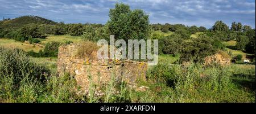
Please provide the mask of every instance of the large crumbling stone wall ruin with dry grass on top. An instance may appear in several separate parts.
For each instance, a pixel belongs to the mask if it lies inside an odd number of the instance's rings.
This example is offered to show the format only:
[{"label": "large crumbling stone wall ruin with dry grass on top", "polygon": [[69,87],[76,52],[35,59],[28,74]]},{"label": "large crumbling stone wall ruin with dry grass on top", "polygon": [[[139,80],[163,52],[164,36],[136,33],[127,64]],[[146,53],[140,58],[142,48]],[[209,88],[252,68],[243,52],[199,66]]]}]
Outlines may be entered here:
[{"label": "large crumbling stone wall ruin with dry grass on top", "polygon": [[81,48],[79,43],[59,47],[57,71],[60,75],[72,74],[85,92],[88,91],[90,79],[100,86],[109,84],[112,76],[115,82],[123,80],[131,86],[135,86],[137,80],[146,80],[147,63],[145,62],[98,60],[97,51],[93,51],[89,57],[80,58],[76,55],[79,48]]}]

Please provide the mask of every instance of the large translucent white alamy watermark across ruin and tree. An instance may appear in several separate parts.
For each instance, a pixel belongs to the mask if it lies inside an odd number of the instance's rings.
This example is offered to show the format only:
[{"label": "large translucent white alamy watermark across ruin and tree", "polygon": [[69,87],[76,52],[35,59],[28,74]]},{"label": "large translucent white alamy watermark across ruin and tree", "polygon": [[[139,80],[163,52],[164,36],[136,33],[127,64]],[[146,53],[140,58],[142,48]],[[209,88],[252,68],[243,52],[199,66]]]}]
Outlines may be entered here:
[{"label": "large translucent white alamy watermark across ruin and tree", "polygon": [[[110,45],[108,41],[104,39],[97,42],[97,46],[101,46],[101,48],[97,51],[97,58],[138,60],[140,52],[141,59],[148,60],[148,65],[156,65],[158,64],[158,40],[153,41],[154,46],[152,49],[151,40],[128,40],[127,46],[125,40],[115,41],[114,36],[110,36]],[[139,46],[141,46],[141,51],[139,51]],[[115,49],[115,47],[118,47],[118,49]]]}]

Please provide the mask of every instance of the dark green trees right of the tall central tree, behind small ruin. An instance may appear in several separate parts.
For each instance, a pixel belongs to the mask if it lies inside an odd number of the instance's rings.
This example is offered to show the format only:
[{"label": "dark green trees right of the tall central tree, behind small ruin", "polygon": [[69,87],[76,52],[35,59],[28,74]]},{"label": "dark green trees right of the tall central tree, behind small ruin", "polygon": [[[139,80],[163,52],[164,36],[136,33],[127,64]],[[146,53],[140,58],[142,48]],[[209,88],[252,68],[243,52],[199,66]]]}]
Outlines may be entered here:
[{"label": "dark green trees right of the tall central tree, behind small ruin", "polygon": [[[198,51],[207,49],[207,54],[210,52],[208,49],[224,50],[225,46],[222,45],[222,41],[236,40],[237,44],[233,48],[235,50],[246,51],[250,54],[255,54],[255,29],[252,29],[249,25],[242,25],[241,23],[232,23],[232,27],[228,27],[222,21],[216,21],[213,27],[207,29],[205,27],[197,27],[193,25],[191,27],[183,24],[152,24],[153,30],[161,30],[162,32],[174,32],[170,36],[163,37],[159,34],[153,34],[152,38],[159,39],[160,53],[163,54],[180,54],[188,55],[191,51]],[[199,33],[200,32],[200,33]],[[191,34],[198,34],[198,38],[191,40]],[[199,40],[201,38],[201,40]],[[206,40],[208,39],[208,40]],[[185,42],[184,42],[185,41]],[[203,45],[205,42],[208,45]],[[212,43],[211,43],[212,42]],[[209,46],[212,44],[212,46]],[[190,48],[191,47],[191,48]],[[198,50],[196,50],[198,49]],[[187,54],[185,54],[187,52]],[[201,56],[203,54],[199,54]],[[187,56],[189,58],[189,56]],[[182,58],[182,56],[181,56]]]}]

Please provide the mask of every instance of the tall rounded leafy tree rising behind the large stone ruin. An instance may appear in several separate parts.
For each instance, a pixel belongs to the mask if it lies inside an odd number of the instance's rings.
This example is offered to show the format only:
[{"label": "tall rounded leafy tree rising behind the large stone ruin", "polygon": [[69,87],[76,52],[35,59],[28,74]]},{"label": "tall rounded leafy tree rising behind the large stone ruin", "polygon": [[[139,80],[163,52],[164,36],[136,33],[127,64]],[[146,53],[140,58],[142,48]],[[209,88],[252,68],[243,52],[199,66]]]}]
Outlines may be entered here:
[{"label": "tall rounded leafy tree rising behind the large stone ruin", "polygon": [[116,39],[141,40],[150,36],[148,15],[143,10],[131,10],[128,5],[117,3],[115,8],[110,9],[109,17],[106,25]]}]

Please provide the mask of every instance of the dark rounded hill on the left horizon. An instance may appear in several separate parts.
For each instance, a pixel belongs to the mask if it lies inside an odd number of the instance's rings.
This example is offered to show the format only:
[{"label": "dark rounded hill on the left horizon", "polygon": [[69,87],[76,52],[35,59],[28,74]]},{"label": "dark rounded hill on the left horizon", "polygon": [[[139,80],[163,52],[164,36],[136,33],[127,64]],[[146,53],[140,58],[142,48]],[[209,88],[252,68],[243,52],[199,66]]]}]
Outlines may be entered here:
[{"label": "dark rounded hill on the left horizon", "polygon": [[1,27],[2,28],[19,28],[26,24],[56,24],[55,21],[45,19],[39,16],[20,16],[11,20],[3,20]]}]

